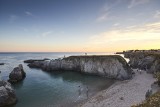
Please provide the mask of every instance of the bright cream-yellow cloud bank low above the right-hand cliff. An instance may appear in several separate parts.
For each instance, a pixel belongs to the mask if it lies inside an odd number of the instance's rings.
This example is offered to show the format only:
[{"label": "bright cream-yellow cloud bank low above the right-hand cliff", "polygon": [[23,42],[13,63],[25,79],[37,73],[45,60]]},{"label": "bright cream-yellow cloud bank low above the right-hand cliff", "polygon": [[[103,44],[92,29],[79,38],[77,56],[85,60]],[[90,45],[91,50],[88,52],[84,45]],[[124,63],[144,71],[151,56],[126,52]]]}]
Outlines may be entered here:
[{"label": "bright cream-yellow cloud bank low above the right-hand cliff", "polygon": [[101,51],[160,48],[159,29],[160,22],[113,29],[91,36],[88,46]]}]

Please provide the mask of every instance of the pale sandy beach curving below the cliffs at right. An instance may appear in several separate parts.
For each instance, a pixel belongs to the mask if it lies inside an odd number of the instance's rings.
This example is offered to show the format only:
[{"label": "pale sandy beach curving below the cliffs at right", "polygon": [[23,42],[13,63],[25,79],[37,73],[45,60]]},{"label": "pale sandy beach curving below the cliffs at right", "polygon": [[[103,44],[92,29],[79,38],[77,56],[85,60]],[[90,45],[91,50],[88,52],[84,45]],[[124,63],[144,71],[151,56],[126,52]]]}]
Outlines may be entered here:
[{"label": "pale sandy beach curving below the cliffs at right", "polygon": [[151,89],[155,78],[145,71],[134,69],[131,80],[118,81],[110,88],[97,93],[79,107],[130,107],[145,100],[145,94]]}]

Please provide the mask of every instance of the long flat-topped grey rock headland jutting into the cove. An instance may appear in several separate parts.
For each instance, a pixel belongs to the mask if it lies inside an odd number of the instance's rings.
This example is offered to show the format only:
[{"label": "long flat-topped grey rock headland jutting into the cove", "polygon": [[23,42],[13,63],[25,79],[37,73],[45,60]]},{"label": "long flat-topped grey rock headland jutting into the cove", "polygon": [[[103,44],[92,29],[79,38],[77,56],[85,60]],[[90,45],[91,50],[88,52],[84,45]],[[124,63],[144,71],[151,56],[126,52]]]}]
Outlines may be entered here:
[{"label": "long flat-topped grey rock headland jutting into the cove", "polygon": [[35,61],[28,66],[45,71],[77,71],[120,80],[131,78],[132,73],[125,59],[119,55],[70,56],[51,61]]}]

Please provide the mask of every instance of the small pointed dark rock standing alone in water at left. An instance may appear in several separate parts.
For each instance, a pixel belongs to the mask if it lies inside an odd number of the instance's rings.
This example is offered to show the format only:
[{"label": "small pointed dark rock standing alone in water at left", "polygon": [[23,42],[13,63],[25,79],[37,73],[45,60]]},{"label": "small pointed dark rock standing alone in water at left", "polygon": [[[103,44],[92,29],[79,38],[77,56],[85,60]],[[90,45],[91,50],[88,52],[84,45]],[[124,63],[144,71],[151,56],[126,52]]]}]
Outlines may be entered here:
[{"label": "small pointed dark rock standing alone in water at left", "polygon": [[16,83],[23,80],[26,77],[26,73],[23,70],[22,64],[19,64],[18,67],[15,67],[13,71],[9,74],[9,82]]}]

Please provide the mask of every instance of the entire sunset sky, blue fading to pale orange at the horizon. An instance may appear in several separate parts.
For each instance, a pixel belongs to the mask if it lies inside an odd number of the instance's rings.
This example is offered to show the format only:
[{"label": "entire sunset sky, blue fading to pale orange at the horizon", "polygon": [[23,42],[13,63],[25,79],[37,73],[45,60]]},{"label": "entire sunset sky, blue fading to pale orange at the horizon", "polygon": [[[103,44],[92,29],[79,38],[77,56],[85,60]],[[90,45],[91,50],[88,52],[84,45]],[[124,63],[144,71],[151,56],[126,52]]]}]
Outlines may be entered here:
[{"label": "entire sunset sky, blue fading to pale orange at the horizon", "polygon": [[0,0],[0,52],[160,49],[160,0]]}]

